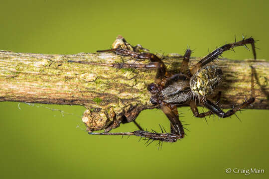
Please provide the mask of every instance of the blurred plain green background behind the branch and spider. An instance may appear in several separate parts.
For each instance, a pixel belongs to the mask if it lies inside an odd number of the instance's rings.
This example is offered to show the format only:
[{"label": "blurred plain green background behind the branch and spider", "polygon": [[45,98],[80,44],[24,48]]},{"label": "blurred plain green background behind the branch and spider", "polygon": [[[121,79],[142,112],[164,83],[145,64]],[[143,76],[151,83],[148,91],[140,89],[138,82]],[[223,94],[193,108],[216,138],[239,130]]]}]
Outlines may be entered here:
[{"label": "blurred plain green background behind the branch and spider", "polygon": [[[215,46],[241,39],[260,40],[259,59],[269,59],[269,2],[265,0],[1,0],[0,49],[74,54],[110,47],[123,35],[151,52],[204,56]],[[253,58],[236,48],[232,59]],[[243,96],[242,96],[243,98]],[[56,109],[56,110],[54,110]],[[199,108],[202,110],[202,108]],[[138,138],[90,136],[82,106],[0,102],[0,176],[2,179],[165,179],[268,178],[269,111],[246,110],[236,117],[204,119],[183,112],[188,136],[145,147]],[[168,129],[160,110],[142,111],[143,127]],[[82,129],[82,130],[80,130]],[[134,131],[133,123],[114,131]],[[159,129],[158,129],[159,130]],[[264,169],[265,174],[226,174],[227,168]]]}]

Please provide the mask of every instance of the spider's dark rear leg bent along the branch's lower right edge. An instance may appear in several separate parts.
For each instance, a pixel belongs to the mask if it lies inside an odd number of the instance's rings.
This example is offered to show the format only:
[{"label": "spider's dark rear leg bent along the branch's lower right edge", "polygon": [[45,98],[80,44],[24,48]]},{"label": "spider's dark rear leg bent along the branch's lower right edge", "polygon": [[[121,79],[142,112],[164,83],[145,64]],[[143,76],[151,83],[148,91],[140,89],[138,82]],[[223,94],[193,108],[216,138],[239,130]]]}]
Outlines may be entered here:
[{"label": "spider's dark rear leg bent along the branch's lower right edge", "polygon": [[251,66],[251,97],[244,101],[242,104],[239,104],[238,106],[228,110],[227,112],[223,112],[220,107],[218,107],[216,104],[211,102],[210,100],[206,99],[203,101],[204,105],[216,113],[219,117],[225,118],[229,117],[233,114],[235,114],[237,111],[241,110],[242,108],[250,105],[255,101],[255,89],[254,89],[254,68]]}]

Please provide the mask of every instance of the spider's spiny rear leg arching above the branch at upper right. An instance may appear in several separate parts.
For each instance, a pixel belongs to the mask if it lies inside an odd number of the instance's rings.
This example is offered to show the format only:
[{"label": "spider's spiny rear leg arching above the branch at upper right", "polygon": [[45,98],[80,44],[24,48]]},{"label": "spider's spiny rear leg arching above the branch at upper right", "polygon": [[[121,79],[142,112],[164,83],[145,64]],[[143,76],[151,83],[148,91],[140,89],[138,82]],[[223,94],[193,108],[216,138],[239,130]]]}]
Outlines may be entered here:
[{"label": "spider's spiny rear leg arching above the branch at upper right", "polygon": [[213,52],[211,52],[210,54],[208,54],[207,56],[205,56],[202,60],[200,60],[192,69],[191,69],[191,74],[194,75],[196,72],[198,72],[203,66],[205,66],[206,64],[212,62],[213,60],[215,60],[216,58],[218,58],[218,56],[220,56],[224,51],[227,50],[234,50],[233,47],[237,47],[237,46],[245,46],[246,44],[251,44],[252,45],[252,51],[253,51],[253,55],[254,55],[254,59],[256,59],[256,51],[255,51],[255,40],[251,37],[248,39],[245,39],[245,37],[243,36],[243,40],[235,42],[235,43],[230,43],[230,44],[226,44],[223,45],[220,48],[217,48],[216,50],[214,50]]}]

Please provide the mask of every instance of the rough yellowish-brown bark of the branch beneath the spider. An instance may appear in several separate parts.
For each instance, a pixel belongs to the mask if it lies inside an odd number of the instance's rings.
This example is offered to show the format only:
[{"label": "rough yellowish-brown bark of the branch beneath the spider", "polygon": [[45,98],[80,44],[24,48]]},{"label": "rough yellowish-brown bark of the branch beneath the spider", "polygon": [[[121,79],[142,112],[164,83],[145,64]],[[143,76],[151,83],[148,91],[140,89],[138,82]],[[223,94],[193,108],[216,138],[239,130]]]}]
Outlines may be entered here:
[{"label": "rough yellowish-brown bark of the branch beneath the spider", "polygon": [[[115,44],[114,44],[115,45]],[[190,59],[190,67],[201,58]],[[155,70],[114,69],[112,67],[69,63],[148,63],[130,60],[114,53],[45,55],[0,51],[0,101],[83,105],[83,122],[90,131],[106,129],[116,120],[130,122],[143,109],[152,109],[147,85],[154,82]],[[169,71],[178,72],[179,54],[164,56]],[[255,67],[255,103],[250,108],[269,109],[269,62],[229,60],[216,62],[224,77],[215,93],[222,91],[220,104],[231,108],[250,96],[251,68]],[[212,95],[214,96],[214,94]],[[117,127],[114,123],[113,128]]]}]

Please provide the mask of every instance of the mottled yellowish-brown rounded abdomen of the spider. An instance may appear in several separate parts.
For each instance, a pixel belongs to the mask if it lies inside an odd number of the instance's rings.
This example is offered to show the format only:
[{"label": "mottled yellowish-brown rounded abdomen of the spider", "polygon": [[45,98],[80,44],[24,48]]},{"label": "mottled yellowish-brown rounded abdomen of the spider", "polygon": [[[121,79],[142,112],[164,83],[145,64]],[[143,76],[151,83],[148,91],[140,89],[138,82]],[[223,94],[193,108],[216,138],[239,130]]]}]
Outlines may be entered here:
[{"label": "mottled yellowish-brown rounded abdomen of the spider", "polygon": [[222,79],[222,71],[218,66],[201,68],[190,79],[190,88],[194,95],[206,96],[212,93]]}]

